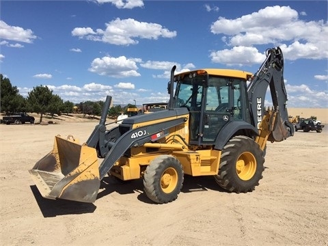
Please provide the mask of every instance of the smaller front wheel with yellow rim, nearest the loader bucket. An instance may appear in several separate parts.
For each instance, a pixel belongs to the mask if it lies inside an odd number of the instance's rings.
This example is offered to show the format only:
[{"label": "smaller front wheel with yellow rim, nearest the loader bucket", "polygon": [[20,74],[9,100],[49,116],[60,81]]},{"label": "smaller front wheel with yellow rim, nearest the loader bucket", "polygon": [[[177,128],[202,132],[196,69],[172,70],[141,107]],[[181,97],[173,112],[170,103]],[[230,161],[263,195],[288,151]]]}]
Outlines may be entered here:
[{"label": "smaller front wheel with yellow rim, nearest the loader bucket", "polygon": [[170,155],[156,157],[143,175],[143,187],[153,202],[166,204],[176,200],[182,188],[182,165]]}]

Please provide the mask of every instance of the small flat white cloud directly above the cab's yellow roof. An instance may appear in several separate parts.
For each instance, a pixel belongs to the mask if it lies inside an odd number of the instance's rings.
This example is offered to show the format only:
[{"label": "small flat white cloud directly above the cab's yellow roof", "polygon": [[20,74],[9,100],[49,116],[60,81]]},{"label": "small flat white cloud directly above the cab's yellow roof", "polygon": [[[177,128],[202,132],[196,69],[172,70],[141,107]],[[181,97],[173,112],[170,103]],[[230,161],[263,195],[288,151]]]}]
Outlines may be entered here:
[{"label": "small flat white cloud directly above the cab's yellow roof", "polygon": [[262,63],[266,55],[259,53],[254,47],[235,46],[230,50],[213,51],[210,58],[215,63],[227,66],[251,66]]}]

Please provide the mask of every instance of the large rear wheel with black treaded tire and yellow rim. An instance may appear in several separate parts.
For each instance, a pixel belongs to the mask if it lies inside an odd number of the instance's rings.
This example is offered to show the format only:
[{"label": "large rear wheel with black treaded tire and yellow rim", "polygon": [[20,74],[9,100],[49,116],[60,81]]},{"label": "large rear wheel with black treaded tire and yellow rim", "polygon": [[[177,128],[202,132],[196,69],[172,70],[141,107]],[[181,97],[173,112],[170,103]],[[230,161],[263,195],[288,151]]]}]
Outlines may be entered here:
[{"label": "large rear wheel with black treaded tire and yellow rim", "polygon": [[253,139],[236,136],[224,146],[215,181],[230,192],[253,191],[263,177],[264,156]]}]

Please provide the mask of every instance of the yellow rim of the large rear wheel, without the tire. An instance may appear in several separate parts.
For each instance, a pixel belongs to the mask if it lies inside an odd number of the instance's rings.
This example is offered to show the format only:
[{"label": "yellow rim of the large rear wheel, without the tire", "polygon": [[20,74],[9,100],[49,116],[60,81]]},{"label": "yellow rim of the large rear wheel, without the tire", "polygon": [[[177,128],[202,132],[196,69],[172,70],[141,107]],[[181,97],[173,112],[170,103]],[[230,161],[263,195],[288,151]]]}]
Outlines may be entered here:
[{"label": "yellow rim of the large rear wheel, without the tire", "polygon": [[251,152],[244,152],[236,162],[236,173],[241,180],[250,180],[256,172],[256,159]]}]

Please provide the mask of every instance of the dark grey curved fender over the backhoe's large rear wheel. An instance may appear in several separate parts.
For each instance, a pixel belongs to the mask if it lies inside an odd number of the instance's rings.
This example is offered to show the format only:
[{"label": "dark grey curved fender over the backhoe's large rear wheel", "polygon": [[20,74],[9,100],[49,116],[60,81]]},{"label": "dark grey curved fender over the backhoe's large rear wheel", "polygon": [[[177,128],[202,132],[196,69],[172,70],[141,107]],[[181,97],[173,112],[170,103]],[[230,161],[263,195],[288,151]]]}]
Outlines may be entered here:
[{"label": "dark grey curved fender over the backhoe's large rear wheel", "polygon": [[231,137],[239,130],[247,131],[249,130],[250,135],[258,135],[258,130],[255,126],[244,122],[244,121],[233,121],[229,122],[219,132],[217,139],[215,139],[215,150],[222,150],[226,143],[231,139]]}]

